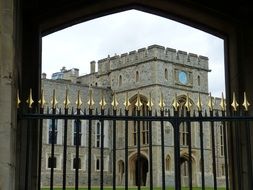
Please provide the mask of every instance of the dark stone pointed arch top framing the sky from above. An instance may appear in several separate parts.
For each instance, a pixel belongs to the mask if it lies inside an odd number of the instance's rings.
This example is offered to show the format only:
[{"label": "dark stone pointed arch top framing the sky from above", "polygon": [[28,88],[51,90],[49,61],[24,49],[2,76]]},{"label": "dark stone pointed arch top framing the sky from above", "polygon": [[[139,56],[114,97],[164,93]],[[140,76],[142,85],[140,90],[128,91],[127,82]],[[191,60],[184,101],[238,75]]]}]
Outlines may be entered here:
[{"label": "dark stone pointed arch top framing the sky from above", "polygon": [[[122,0],[122,1],[87,1],[59,3],[57,9],[49,6],[45,1],[47,14],[39,15],[42,35],[92,20],[102,16],[136,9],[139,11],[159,15],[183,24],[198,28],[213,35],[224,37],[233,30],[228,19],[221,19],[222,15],[212,13],[210,9],[193,6],[192,3],[182,3],[165,0]],[[48,3],[49,4],[49,3]]]}]

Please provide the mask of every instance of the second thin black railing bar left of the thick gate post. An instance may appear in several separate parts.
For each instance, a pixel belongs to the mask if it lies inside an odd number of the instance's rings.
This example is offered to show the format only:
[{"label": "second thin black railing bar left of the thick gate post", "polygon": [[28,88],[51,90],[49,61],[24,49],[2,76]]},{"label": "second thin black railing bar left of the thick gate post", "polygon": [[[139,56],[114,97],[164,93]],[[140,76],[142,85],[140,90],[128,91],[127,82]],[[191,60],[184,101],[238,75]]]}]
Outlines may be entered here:
[{"label": "second thin black railing bar left of the thick gate post", "polygon": [[[149,111],[149,116],[152,116],[152,111]],[[153,150],[152,150],[152,121],[149,121],[149,185],[150,190],[153,190]]]}]

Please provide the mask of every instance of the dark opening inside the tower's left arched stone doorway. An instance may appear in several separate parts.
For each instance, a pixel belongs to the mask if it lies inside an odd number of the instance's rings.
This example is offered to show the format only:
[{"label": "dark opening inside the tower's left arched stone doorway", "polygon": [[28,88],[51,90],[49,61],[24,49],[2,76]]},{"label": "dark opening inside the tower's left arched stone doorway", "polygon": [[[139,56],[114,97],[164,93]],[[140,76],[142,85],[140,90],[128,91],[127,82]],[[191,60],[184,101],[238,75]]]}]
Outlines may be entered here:
[{"label": "dark opening inside the tower's left arched stone doorway", "polygon": [[[148,160],[144,156],[140,156],[140,166],[138,165],[138,158],[135,160],[135,185],[146,186],[147,172],[148,172]],[[138,168],[140,173],[138,174]]]}]

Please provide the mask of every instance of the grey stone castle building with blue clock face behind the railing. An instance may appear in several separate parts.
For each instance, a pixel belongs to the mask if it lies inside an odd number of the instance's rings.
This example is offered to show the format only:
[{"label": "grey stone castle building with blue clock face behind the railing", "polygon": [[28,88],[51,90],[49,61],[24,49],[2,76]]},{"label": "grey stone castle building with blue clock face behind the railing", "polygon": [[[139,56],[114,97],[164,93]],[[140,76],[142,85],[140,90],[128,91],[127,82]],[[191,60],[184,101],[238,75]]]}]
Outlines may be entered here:
[{"label": "grey stone castle building with blue clock face behind the railing", "polygon": [[[96,71],[98,64],[98,71]],[[148,48],[142,48],[138,51],[131,51],[122,55],[115,55],[99,60],[97,63],[90,63],[90,74],[79,76],[78,69],[66,70],[62,68],[60,72],[54,73],[52,79],[42,77],[42,88],[45,92],[45,98],[52,98],[52,89],[55,89],[57,101],[59,102],[56,112],[64,107],[65,91],[69,91],[70,107],[76,107],[77,92],[79,91],[82,99],[82,110],[87,108],[88,90],[92,88],[95,106],[99,108],[101,92],[103,92],[107,102],[107,108],[111,108],[113,94],[116,94],[119,103],[118,110],[124,110],[124,101],[128,93],[131,103],[129,114],[136,112],[135,103],[137,94],[140,94],[142,103],[141,115],[147,115],[147,102],[151,95],[154,103],[153,110],[159,110],[159,100],[161,93],[164,96],[165,110],[173,110],[172,100],[177,97],[177,101],[185,113],[184,104],[187,96],[192,104],[192,109],[196,109],[195,103],[200,96],[203,102],[208,101],[208,58],[198,56],[193,53],[176,51],[175,49],[165,48],[159,45],[152,45]],[[218,101],[217,101],[218,102]],[[218,109],[218,103],[214,105]],[[203,110],[208,110],[203,105]],[[50,109],[49,109],[50,112]],[[75,113],[74,113],[75,114]],[[169,114],[169,112],[165,112]],[[62,159],[63,159],[63,121],[56,122],[55,142],[52,142],[52,122],[43,121],[43,148],[41,165],[41,185],[48,186],[50,179],[50,168],[53,164],[55,168],[54,183],[62,183]],[[81,121],[80,134],[80,159],[75,160],[76,130],[75,121],[68,123],[67,138],[67,185],[74,185],[75,168],[79,167],[80,185],[87,185],[87,152],[88,152],[88,121]],[[204,131],[204,157],[205,157],[205,182],[206,186],[213,186],[212,173],[212,151],[211,151],[211,130],[208,123],[203,123]],[[221,123],[215,123],[215,150],[218,185],[225,183],[224,167],[224,131]],[[125,133],[124,122],[116,123],[116,183],[124,185],[125,176]],[[152,123],[152,134],[149,133],[147,122],[141,122],[141,177],[137,178],[137,137],[136,122],[129,122],[128,133],[128,178],[129,185],[149,184],[149,135],[152,135],[153,150],[153,184],[161,186],[162,169],[161,162],[165,163],[165,178],[167,186],[174,186],[174,136],[173,128],[169,122],[165,122],[165,160],[161,160],[161,128],[159,122]],[[181,160],[181,183],[188,185],[188,167],[187,160],[192,160],[192,180],[193,186],[201,185],[201,167],[200,167],[200,130],[199,124],[191,124],[192,156],[188,155],[189,131],[184,123],[180,126],[180,160]],[[55,157],[50,157],[51,144],[55,143]],[[92,185],[99,185],[100,166],[100,147],[101,147],[101,124],[100,121],[92,123]],[[79,164],[76,164],[79,163]],[[138,181],[140,180],[140,181]],[[112,122],[104,123],[104,183],[112,184]]]}]

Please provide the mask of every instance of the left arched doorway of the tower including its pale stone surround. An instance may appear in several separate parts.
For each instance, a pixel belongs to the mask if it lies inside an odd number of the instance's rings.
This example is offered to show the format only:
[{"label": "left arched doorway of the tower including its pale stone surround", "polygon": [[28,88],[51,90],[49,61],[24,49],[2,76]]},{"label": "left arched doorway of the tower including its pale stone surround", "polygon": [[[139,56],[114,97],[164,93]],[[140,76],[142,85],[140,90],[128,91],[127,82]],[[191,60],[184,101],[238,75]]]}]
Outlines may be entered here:
[{"label": "left arched doorway of the tower including its pale stone surround", "polygon": [[[130,183],[131,185],[146,186],[148,174],[148,159],[143,154],[139,159],[137,153],[134,153],[129,159],[130,165]],[[138,171],[139,168],[139,171]]]}]

